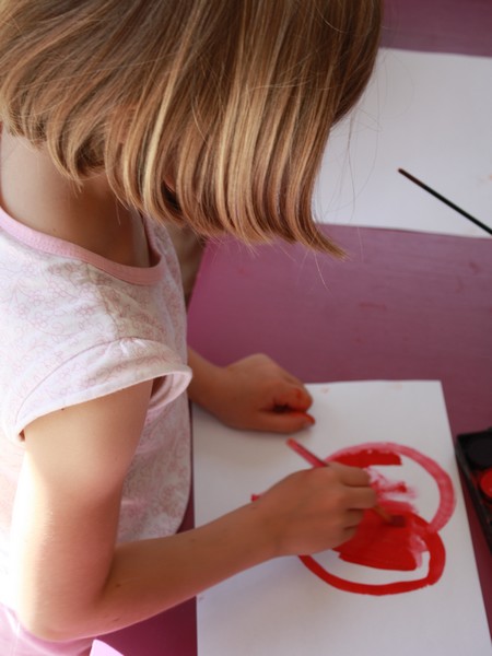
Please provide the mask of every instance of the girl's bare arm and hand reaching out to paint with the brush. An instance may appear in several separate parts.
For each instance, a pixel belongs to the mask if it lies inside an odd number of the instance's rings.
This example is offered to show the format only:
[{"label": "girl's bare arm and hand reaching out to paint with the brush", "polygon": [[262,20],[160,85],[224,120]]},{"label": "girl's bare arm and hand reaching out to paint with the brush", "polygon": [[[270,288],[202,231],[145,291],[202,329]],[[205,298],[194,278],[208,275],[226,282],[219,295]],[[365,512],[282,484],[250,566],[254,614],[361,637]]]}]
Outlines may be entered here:
[{"label": "girl's bare arm and hand reaching out to paint with the brush", "polygon": [[13,583],[21,622],[39,637],[114,631],[273,557],[333,547],[375,503],[364,471],[316,468],[206,526],[115,546],[151,386],[66,408],[25,429]]}]

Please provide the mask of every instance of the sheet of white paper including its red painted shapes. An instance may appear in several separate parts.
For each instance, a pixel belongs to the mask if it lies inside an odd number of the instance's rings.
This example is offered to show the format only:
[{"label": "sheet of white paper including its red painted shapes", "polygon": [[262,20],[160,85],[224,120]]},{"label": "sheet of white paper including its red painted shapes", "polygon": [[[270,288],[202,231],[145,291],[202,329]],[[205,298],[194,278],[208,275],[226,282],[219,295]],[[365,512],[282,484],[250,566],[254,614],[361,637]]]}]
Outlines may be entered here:
[{"label": "sheet of white paper including its red painted shapes", "polygon": [[[316,424],[295,441],[364,467],[379,503],[355,536],[283,558],[198,598],[198,654],[489,656],[490,635],[441,384],[308,386]],[[196,523],[312,465],[279,435],[237,432],[194,409]]]}]

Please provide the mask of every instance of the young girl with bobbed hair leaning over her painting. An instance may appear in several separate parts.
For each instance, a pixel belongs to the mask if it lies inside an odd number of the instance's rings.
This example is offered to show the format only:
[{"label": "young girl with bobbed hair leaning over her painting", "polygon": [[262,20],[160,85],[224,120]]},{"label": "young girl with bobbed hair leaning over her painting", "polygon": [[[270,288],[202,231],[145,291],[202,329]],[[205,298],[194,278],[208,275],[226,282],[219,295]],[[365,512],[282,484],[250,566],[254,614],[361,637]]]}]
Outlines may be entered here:
[{"label": "young girl with bobbed hair leaning over her painting", "polygon": [[312,190],[379,14],[377,0],[0,3],[1,654],[89,654],[91,636],[246,567],[343,542],[374,505],[367,475],[333,465],[176,532],[186,389],[236,427],[314,420],[268,358],[187,355],[164,224],[339,254]]}]

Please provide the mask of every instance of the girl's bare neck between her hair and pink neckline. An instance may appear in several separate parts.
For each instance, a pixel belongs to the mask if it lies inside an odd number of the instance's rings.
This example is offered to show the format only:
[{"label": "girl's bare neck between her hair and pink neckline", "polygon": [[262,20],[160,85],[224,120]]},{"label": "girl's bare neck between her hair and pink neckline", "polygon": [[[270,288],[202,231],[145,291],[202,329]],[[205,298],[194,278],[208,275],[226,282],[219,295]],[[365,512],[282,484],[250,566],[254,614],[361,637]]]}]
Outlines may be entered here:
[{"label": "girl's bare neck between her hair and pink neckline", "polygon": [[81,188],[45,149],[2,131],[0,204],[16,221],[120,263],[149,266],[142,222],[116,199],[104,174]]}]

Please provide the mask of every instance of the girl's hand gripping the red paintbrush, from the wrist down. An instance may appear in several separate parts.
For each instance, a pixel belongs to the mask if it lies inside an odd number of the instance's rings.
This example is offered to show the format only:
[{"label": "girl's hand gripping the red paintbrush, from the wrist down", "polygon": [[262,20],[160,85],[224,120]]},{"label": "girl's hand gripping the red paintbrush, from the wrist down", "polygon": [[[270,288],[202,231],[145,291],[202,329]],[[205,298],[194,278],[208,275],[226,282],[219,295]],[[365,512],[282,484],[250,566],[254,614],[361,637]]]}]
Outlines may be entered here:
[{"label": "girl's hand gripping the red paintbrush, from the wrist down", "polygon": [[253,502],[272,558],[311,554],[350,540],[376,504],[366,471],[330,462],[292,473]]}]

